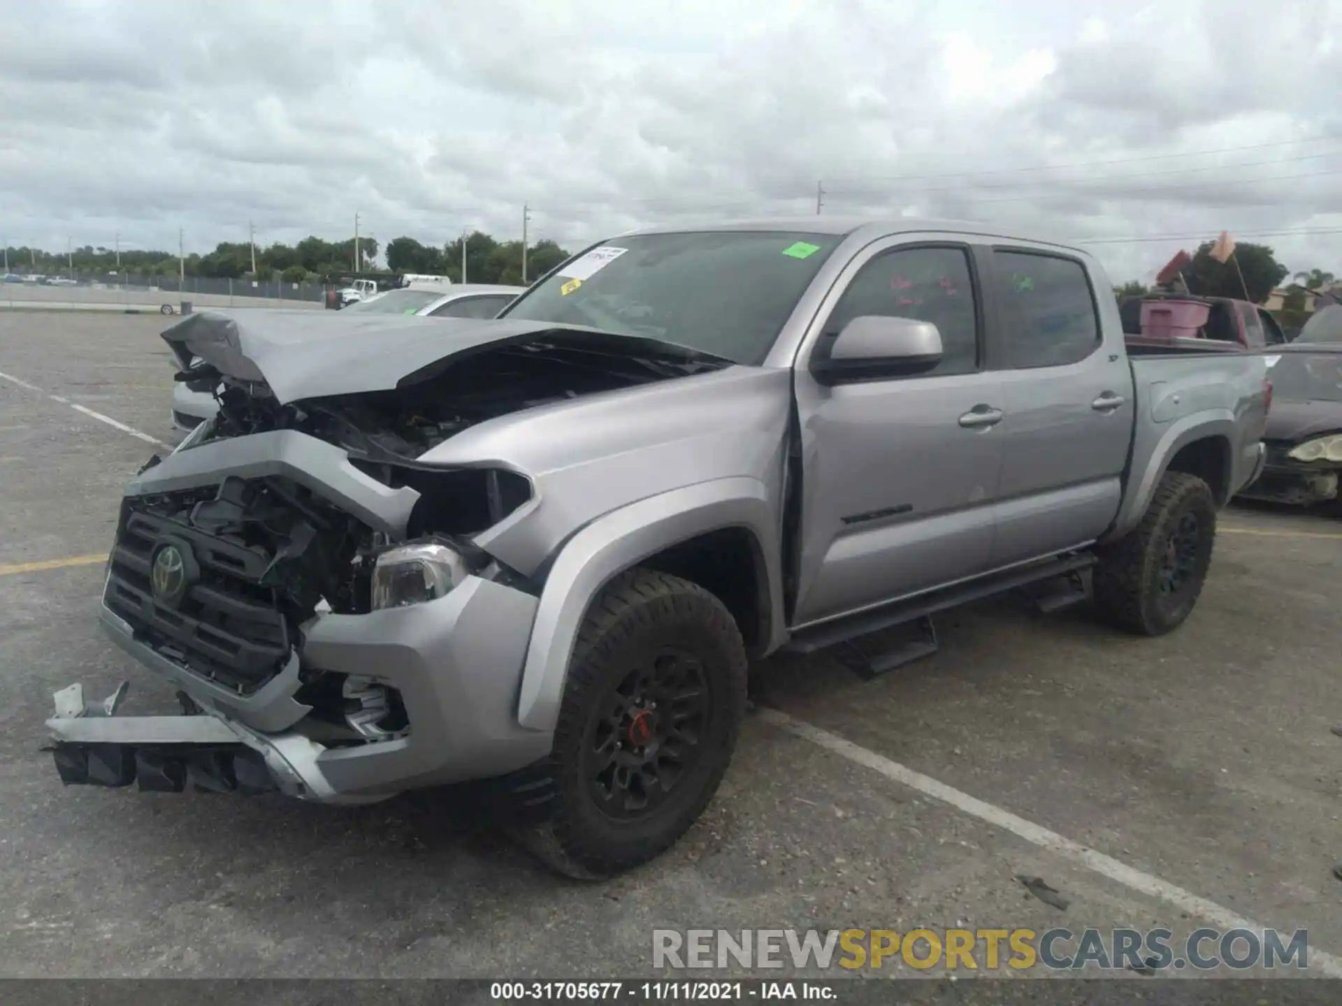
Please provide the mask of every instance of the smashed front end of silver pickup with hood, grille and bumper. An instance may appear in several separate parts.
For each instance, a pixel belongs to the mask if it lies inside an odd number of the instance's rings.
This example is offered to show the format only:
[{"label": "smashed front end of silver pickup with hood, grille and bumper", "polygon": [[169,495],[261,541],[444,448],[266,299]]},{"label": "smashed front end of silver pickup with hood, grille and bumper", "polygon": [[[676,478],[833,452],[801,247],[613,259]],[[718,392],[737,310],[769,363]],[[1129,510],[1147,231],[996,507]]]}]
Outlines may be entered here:
[{"label": "smashed front end of silver pickup with hood, grille and bumper", "polygon": [[535,486],[425,455],[726,362],[506,319],[201,313],[164,338],[219,412],[126,487],[99,618],[183,711],[58,692],[60,778],[368,802],[545,757],[550,735],[515,715],[535,570],[475,541],[534,508]]}]

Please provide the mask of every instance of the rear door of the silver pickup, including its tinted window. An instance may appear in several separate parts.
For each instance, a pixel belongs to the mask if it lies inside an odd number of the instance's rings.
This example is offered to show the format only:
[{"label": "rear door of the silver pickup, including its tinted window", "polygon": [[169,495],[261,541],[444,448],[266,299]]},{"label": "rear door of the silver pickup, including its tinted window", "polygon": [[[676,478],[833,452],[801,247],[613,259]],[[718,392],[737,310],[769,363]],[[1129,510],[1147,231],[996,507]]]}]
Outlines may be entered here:
[{"label": "rear door of the silver pickup, including its tinted window", "polygon": [[1094,287],[1079,258],[1012,247],[992,256],[1005,400],[998,567],[1104,531],[1122,499],[1134,396],[1113,294]]}]

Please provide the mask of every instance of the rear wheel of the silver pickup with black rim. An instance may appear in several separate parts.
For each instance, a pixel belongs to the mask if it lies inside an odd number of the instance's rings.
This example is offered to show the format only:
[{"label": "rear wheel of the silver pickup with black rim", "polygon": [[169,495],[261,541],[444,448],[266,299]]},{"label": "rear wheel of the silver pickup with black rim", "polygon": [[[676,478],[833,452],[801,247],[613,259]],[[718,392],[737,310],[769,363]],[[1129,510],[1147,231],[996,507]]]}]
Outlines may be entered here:
[{"label": "rear wheel of the silver pickup with black rim", "polygon": [[1193,612],[1216,542],[1216,500],[1196,475],[1166,472],[1141,523],[1100,549],[1095,613],[1139,636],[1164,636]]}]

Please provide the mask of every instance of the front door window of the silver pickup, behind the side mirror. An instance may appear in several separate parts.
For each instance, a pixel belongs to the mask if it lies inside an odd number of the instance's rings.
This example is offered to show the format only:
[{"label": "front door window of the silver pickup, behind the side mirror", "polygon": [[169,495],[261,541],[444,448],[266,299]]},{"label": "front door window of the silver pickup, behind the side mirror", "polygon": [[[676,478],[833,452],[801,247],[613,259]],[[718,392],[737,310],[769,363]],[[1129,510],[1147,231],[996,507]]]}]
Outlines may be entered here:
[{"label": "front door window of the silver pickup, behind the side mirror", "polygon": [[899,248],[862,270],[829,315],[827,335],[837,335],[864,315],[917,318],[941,333],[941,362],[919,377],[968,374],[978,368],[978,313],[966,248]]}]

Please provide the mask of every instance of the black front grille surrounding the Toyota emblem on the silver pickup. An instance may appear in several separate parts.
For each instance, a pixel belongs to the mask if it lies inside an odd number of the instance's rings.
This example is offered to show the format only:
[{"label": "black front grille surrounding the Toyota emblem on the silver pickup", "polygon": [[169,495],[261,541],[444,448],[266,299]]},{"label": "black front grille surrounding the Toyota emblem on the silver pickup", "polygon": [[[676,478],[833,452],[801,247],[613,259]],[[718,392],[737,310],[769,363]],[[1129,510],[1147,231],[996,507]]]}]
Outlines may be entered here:
[{"label": "black front grille surrounding the Toyota emblem on the silver pickup", "polygon": [[[150,569],[165,537],[188,545],[200,567],[181,602],[154,600]],[[266,549],[193,527],[127,500],[111,553],[103,602],[160,655],[204,677],[248,693],[290,657],[290,630],[274,589],[260,579],[271,565]]]}]

